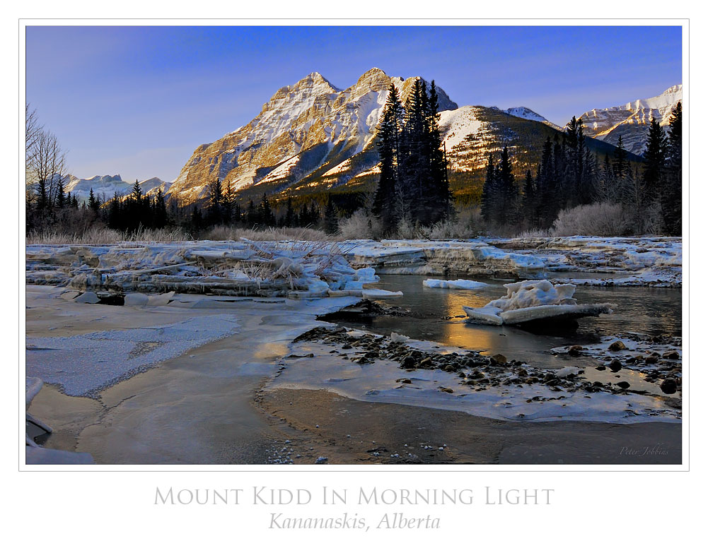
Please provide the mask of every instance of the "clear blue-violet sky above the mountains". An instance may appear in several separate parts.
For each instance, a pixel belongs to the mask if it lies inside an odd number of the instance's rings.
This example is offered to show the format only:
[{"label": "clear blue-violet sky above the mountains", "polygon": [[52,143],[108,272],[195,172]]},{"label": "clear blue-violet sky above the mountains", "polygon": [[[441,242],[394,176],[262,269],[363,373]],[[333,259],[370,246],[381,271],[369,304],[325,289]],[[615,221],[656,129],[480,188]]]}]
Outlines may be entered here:
[{"label": "clear blue-violet sky above the mountains", "polygon": [[28,27],[26,99],[81,178],[173,180],[196,146],[319,71],[420,75],[564,125],[681,83],[680,27]]}]

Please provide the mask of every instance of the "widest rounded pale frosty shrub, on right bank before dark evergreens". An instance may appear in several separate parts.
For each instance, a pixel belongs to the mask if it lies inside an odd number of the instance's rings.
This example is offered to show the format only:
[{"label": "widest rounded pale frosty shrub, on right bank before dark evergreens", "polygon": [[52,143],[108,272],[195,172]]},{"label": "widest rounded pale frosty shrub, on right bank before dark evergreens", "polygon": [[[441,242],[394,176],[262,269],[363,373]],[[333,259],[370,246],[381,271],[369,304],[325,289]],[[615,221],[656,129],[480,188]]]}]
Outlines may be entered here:
[{"label": "widest rounded pale frosty shrub, on right bank before dark evergreens", "polygon": [[593,203],[561,210],[553,222],[552,234],[569,235],[622,235],[626,229],[622,205]]}]

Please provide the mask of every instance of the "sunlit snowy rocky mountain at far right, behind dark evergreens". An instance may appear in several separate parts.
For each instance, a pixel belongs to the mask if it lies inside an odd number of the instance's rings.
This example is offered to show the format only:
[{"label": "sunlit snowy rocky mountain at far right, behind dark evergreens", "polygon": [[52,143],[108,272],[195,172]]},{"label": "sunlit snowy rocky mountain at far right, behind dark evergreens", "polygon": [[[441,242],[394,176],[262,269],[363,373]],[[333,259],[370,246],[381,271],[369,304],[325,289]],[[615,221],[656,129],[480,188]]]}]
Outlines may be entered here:
[{"label": "sunlit snowy rocky mountain at far right, behind dark evergreens", "polygon": [[651,119],[655,118],[662,126],[668,126],[671,110],[680,100],[683,100],[683,85],[674,85],[653,98],[634,100],[607,109],[593,109],[583,113],[581,118],[588,136],[613,145],[622,136],[625,149],[641,154]]}]

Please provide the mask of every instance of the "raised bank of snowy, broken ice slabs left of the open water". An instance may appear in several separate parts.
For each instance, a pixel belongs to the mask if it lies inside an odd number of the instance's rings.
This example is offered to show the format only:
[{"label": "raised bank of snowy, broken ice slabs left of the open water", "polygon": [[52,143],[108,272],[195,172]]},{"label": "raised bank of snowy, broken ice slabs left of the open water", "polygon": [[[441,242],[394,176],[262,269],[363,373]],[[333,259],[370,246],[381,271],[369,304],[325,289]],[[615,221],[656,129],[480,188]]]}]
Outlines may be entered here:
[{"label": "raised bank of snowy, broken ice slabs left of the open water", "polygon": [[78,291],[324,297],[377,281],[353,269],[334,243],[198,241],[30,245],[28,284]]}]

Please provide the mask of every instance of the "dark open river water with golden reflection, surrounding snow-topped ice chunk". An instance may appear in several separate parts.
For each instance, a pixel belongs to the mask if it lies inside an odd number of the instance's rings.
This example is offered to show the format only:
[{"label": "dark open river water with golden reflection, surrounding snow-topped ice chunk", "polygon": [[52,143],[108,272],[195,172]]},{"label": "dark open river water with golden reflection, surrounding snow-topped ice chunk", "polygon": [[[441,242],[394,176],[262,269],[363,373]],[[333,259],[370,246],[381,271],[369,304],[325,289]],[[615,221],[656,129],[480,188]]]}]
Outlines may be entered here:
[{"label": "dark open river water with golden reflection, surrounding snow-topped ice chunk", "polygon": [[[598,342],[599,337],[623,333],[641,335],[681,335],[681,289],[646,287],[578,286],[578,303],[613,303],[615,312],[599,318],[579,320],[576,332],[539,335],[516,327],[493,327],[467,322],[462,306],[484,306],[503,296],[508,280],[475,278],[489,284],[482,289],[438,289],[423,286],[426,276],[382,275],[376,285],[402,291],[402,297],[379,301],[388,306],[411,310],[410,317],[379,316],[372,320],[347,322],[350,327],[381,334],[398,332],[450,346],[475,349],[484,354],[501,353],[545,368],[565,366],[549,349],[573,344]],[[551,277],[553,278],[553,277]],[[328,318],[338,321],[336,317]],[[589,360],[589,358],[588,358]]]}]

